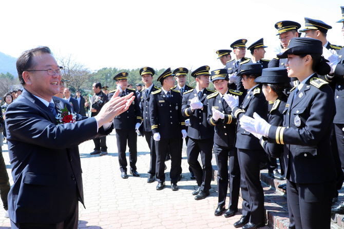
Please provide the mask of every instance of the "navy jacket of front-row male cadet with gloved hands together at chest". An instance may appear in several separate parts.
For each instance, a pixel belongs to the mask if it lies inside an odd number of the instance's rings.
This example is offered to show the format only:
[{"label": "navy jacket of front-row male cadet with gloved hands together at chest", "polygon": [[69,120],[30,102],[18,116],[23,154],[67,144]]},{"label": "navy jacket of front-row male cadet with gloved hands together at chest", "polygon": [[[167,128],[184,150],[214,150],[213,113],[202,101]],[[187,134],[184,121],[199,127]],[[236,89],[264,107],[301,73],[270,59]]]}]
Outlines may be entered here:
[{"label": "navy jacket of front-row male cadet with gloved hands together at chest", "polygon": [[208,95],[214,93],[214,91],[204,88],[202,97],[199,98],[203,103],[203,110],[196,109],[194,111],[190,108],[190,101],[198,96],[197,90],[189,90],[183,95],[182,114],[184,118],[190,119],[190,126],[187,129],[187,136],[193,139],[207,139],[214,138],[214,128],[209,126],[207,122],[208,117]]}]

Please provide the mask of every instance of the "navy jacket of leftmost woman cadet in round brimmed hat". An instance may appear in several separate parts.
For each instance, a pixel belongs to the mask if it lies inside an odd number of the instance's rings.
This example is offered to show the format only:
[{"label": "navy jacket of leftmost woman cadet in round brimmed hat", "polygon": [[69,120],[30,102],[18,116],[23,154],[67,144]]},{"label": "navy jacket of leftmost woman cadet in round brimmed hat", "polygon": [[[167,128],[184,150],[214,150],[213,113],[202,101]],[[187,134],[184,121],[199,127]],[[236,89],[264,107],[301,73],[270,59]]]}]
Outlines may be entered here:
[{"label": "navy jacket of leftmost woman cadet in round brimmed hat", "polygon": [[258,84],[251,90],[244,98],[240,107],[233,109],[234,116],[237,118],[237,138],[235,147],[246,150],[263,150],[259,139],[253,136],[250,132],[245,131],[240,126],[239,119],[243,116],[253,118],[253,113],[256,112],[261,118],[267,121],[267,106],[268,102],[262,91],[262,85]]}]

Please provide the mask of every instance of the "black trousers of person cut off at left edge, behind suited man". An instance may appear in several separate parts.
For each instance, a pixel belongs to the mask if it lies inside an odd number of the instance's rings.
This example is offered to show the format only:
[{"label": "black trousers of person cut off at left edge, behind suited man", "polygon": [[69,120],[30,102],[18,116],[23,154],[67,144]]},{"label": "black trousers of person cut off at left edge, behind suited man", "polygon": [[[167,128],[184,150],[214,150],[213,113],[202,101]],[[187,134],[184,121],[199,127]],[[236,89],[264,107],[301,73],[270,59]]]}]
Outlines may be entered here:
[{"label": "black trousers of person cut off at left edge, behind suited man", "polygon": [[10,192],[11,185],[8,173],[6,170],[6,164],[3,157],[3,149],[0,147],[0,197],[3,201],[4,209],[8,210],[7,196]]}]

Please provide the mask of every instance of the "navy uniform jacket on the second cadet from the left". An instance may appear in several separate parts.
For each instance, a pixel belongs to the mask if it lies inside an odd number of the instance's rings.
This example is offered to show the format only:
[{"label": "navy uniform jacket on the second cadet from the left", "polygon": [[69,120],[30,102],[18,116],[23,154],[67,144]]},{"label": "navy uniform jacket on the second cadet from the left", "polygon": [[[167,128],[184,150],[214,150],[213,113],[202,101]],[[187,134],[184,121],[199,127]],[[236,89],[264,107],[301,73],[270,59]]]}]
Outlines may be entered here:
[{"label": "navy uniform jacket on the second cadet from the left", "polygon": [[142,124],[141,127],[144,132],[150,132],[151,131],[151,125],[150,125],[150,115],[149,115],[149,100],[150,100],[150,94],[151,92],[158,91],[160,88],[153,85],[151,87],[148,97],[146,97],[146,93],[144,92],[144,89],[141,90],[141,101],[140,101],[140,109],[141,109],[141,117],[142,117]]}]

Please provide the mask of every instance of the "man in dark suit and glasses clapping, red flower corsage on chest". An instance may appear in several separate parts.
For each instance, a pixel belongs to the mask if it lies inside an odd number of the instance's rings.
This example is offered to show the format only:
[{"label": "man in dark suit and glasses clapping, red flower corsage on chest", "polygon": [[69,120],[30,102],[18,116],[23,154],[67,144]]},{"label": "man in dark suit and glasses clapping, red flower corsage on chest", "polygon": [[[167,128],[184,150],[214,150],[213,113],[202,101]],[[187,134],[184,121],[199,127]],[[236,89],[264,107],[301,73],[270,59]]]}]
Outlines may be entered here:
[{"label": "man in dark suit and glasses clapping, red flower corsage on chest", "polygon": [[128,109],[132,94],[113,98],[97,117],[77,114],[75,123],[60,125],[56,116],[61,109],[74,111],[69,102],[53,96],[59,92],[61,72],[50,49],[25,51],[16,66],[24,91],[6,110],[14,182],[8,195],[11,227],[76,229],[78,200],[84,203],[78,145],[109,134],[113,117]]}]

